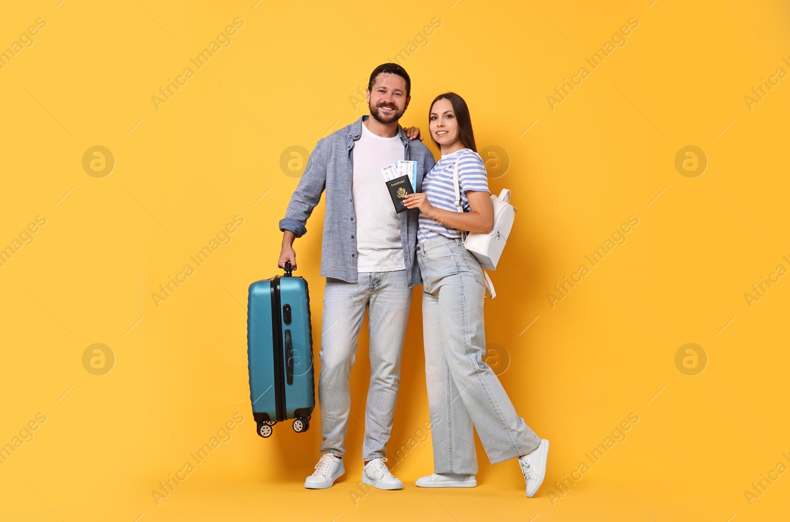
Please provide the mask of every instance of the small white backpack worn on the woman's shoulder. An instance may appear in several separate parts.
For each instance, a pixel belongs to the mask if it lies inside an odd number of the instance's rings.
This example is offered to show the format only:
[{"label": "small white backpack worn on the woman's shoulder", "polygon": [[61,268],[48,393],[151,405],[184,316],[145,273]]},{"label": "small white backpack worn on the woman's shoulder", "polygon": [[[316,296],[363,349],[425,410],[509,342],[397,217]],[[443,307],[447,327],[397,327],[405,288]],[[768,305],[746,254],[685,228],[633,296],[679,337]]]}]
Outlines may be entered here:
[{"label": "small white backpack worn on the woman's shoulder", "polygon": [[[455,208],[458,212],[464,212],[464,208],[461,206],[461,186],[458,184],[458,162],[453,167],[453,186],[455,186]],[[461,232],[466,250],[474,254],[477,261],[480,261],[480,266],[483,267],[486,290],[491,296],[486,299],[494,299],[496,291],[491,277],[488,276],[485,269],[496,270],[496,265],[499,262],[499,257],[502,256],[502,250],[505,248],[516,216],[516,208],[510,205],[510,190],[508,189],[502,189],[499,197],[491,194],[491,206],[494,207],[494,224],[490,232]]]}]

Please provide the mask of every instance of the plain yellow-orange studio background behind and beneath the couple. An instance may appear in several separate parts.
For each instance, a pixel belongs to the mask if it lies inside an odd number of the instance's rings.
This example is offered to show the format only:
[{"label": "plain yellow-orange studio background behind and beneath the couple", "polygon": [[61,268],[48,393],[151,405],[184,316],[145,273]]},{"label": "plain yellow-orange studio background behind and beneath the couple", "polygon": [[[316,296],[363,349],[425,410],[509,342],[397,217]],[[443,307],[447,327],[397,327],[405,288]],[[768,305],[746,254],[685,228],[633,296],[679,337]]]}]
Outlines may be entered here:
[{"label": "plain yellow-orange studio background behind and beneath the couple", "polygon": [[[777,265],[790,269],[790,79],[745,100],[778,68],[790,71],[786,3],[53,0],[3,11],[0,51],[20,47],[0,69],[0,247],[13,249],[0,266],[0,445],[32,440],[0,464],[2,520],[739,522],[781,520],[790,508],[781,474],[759,498],[744,494],[777,463],[790,466],[790,283],[779,277],[751,307],[744,297]],[[25,47],[20,36],[39,18],[46,24]],[[218,39],[237,18],[241,27]],[[625,45],[592,69],[585,58],[632,18]],[[157,107],[152,96],[213,41],[216,54]],[[277,425],[267,440],[254,432],[246,289],[277,272],[277,221],[305,160],[290,148],[310,150],[366,114],[353,97],[402,49],[412,50],[401,62],[413,83],[401,122],[427,130],[430,100],[458,92],[492,190],[513,191],[487,340],[517,411],[551,440],[532,499],[517,464],[491,467],[480,445],[475,490],[414,486],[432,471],[419,431],[428,420],[419,289],[388,448],[404,490],[358,490],[367,329],[343,480],[303,489],[320,422],[306,434]],[[552,107],[547,97],[581,67],[589,75]],[[96,145],[112,171],[92,171],[92,153],[83,167]],[[675,167],[687,145],[702,150],[705,171]],[[323,204],[295,243],[316,353],[322,215]],[[23,234],[36,216],[46,224]],[[156,306],[160,284],[234,216],[243,224],[230,242]],[[639,222],[626,242],[588,265],[629,216]],[[582,264],[589,274],[552,307],[547,294]],[[115,358],[103,375],[83,359],[97,343],[105,370]],[[222,432],[227,440],[157,505],[152,490],[237,412],[230,438]],[[39,413],[46,421],[20,434]],[[632,413],[625,440],[592,464],[585,453]],[[555,481],[585,461],[589,472],[559,497]]]}]

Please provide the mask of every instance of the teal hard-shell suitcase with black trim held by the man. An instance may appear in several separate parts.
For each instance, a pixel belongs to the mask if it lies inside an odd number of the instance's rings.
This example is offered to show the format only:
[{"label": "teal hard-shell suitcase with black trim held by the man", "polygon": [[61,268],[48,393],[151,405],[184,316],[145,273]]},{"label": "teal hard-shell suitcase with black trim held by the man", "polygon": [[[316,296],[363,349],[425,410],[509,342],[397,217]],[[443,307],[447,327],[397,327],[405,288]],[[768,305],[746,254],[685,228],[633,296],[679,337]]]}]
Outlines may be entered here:
[{"label": "teal hard-shell suitcase with black trim held by the man", "polygon": [[284,276],[250,284],[247,360],[258,435],[290,419],[295,432],[307,431],[315,407],[310,295],[290,263]]}]

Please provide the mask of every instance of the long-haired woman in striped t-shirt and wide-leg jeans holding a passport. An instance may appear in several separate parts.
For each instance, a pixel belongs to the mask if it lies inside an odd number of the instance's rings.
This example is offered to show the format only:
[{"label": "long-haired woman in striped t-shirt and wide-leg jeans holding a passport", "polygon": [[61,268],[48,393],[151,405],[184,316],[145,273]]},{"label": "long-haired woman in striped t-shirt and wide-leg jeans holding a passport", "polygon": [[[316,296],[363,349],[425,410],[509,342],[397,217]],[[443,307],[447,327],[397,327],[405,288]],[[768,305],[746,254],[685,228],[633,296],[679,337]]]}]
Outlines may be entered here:
[{"label": "long-haired woman in striped t-shirt and wide-leg jeans holding a passport", "polygon": [[[493,210],[486,169],[476,152],[466,102],[454,92],[431,103],[429,130],[442,158],[410,194],[419,208],[417,262],[423,275],[423,335],[434,473],[422,487],[474,487],[477,458],[472,424],[491,464],[518,458],[527,497],[546,474],[548,441],[516,414],[502,384],[483,362],[483,269],[466,250],[461,231],[491,231]],[[458,212],[453,171],[461,188]]]}]

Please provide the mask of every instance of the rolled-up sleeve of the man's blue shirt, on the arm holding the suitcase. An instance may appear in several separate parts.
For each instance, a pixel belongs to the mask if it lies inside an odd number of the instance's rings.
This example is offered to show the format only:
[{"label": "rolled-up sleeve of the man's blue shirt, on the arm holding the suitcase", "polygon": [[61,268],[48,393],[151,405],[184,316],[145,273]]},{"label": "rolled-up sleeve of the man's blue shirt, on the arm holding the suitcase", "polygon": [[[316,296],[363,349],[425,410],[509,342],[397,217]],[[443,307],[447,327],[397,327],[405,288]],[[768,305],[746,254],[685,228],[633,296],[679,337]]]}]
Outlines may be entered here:
[{"label": "rolled-up sleeve of the man's blue shirt, on the arm holding the suitcase", "polygon": [[302,178],[296,186],[285,217],[280,220],[280,231],[292,231],[297,238],[307,232],[307,218],[313,213],[315,205],[321,201],[321,194],[326,188],[325,142],[318,141],[307,160]]}]

